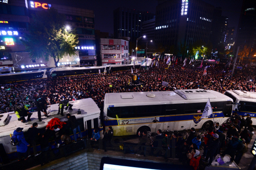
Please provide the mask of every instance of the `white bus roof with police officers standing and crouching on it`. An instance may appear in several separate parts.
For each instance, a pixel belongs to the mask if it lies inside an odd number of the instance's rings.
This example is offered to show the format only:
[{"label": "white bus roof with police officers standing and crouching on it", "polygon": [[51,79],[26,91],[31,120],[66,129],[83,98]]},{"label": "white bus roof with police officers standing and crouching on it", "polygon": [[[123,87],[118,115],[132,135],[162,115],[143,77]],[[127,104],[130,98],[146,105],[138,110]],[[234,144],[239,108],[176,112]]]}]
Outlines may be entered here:
[{"label": "white bus roof with police officers standing and crouching on it", "polygon": [[[92,100],[92,98],[85,98],[85,99],[81,99],[81,100],[70,101],[70,103],[73,104],[73,107],[72,107],[73,110],[70,110],[70,114],[75,115],[76,118],[82,118],[82,117],[88,116],[89,119],[93,119],[93,118],[97,118],[100,116],[101,111],[100,111],[99,107],[96,105],[96,103]],[[53,112],[56,113],[57,112],[56,108],[58,108],[58,104],[50,105],[50,107],[48,107],[48,109],[47,109],[47,112],[50,111],[51,112],[50,114],[52,114]],[[81,110],[82,114],[77,115],[78,109]],[[61,119],[61,121],[67,121],[66,116],[53,115],[53,116],[49,116],[46,118],[44,118],[45,116],[42,116],[43,121],[39,122],[37,112],[33,112],[33,115],[30,117],[31,121],[22,123],[21,121],[18,121],[18,118],[14,112],[3,113],[1,115],[4,115],[4,114],[9,114],[10,120],[9,120],[9,122],[7,122],[6,125],[0,126],[0,137],[8,136],[9,134],[13,134],[13,131],[15,129],[17,129],[18,127],[24,128],[23,131],[26,132],[28,130],[28,128],[35,122],[38,123],[38,128],[46,127],[48,122],[52,118],[55,118],[55,117]],[[65,113],[64,113],[64,115],[65,115]],[[27,119],[27,117],[26,117],[26,119]],[[4,120],[2,119],[0,121],[2,122]]]}]

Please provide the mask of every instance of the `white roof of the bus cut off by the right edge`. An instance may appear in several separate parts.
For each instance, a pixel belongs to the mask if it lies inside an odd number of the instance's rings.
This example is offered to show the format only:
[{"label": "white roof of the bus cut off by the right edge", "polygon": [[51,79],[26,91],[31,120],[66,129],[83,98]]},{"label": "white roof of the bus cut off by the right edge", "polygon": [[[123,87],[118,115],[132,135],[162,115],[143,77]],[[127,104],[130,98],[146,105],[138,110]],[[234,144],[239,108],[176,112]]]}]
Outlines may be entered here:
[{"label": "white roof of the bus cut off by the right edge", "polygon": [[256,102],[256,92],[244,91],[244,90],[227,90],[232,96],[239,101],[251,101]]}]

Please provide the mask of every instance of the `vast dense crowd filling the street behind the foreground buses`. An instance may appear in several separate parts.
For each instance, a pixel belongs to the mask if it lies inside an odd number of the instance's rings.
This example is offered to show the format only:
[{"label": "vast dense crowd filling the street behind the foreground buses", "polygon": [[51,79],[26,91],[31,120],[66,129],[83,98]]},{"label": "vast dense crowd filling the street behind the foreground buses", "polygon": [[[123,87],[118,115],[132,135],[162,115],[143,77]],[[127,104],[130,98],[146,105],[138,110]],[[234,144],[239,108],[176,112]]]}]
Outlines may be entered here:
[{"label": "vast dense crowd filling the street behind the foreground buses", "polygon": [[[60,103],[63,99],[78,100],[92,98],[99,107],[103,106],[106,93],[134,91],[166,91],[175,89],[211,89],[224,93],[226,90],[255,91],[255,68],[245,67],[235,70],[231,77],[231,66],[225,64],[209,65],[192,63],[183,67],[181,64],[166,64],[163,60],[150,70],[137,69],[110,74],[79,75],[48,78],[44,81],[17,82],[1,84],[0,112],[11,112],[16,103],[36,107],[37,98],[45,97],[47,105]],[[156,63],[156,62],[155,62]],[[194,64],[194,66],[193,66]],[[205,67],[207,75],[203,76]],[[136,81],[135,81],[136,80]],[[162,86],[162,81],[168,86]],[[141,84],[139,86],[129,86]],[[111,87],[110,87],[111,86]]]}]

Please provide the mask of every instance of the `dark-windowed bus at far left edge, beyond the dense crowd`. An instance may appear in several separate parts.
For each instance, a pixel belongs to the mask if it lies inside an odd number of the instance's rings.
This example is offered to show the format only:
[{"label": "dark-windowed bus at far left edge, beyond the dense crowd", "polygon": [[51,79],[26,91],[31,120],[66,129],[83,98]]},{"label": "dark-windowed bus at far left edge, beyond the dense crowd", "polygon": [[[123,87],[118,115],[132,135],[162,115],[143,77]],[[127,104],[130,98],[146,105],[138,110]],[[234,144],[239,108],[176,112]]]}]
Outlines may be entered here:
[{"label": "dark-windowed bus at far left edge, beyond the dense crowd", "polygon": [[8,74],[0,74],[1,83],[9,83],[15,81],[28,81],[47,78],[47,70],[38,70],[30,72],[13,72]]}]

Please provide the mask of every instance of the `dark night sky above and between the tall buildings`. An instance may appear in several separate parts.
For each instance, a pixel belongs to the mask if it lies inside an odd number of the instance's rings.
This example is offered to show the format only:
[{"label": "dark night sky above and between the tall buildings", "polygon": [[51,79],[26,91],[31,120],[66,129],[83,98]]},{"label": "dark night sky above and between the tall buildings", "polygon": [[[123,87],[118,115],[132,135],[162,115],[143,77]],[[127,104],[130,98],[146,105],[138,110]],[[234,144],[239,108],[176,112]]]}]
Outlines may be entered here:
[{"label": "dark night sky above and between the tall buildings", "polygon": [[[157,0],[41,0],[51,4],[60,4],[94,11],[95,29],[114,33],[113,10],[119,7],[148,11],[155,14]],[[203,0],[214,7],[222,8],[222,16],[229,18],[228,27],[236,27],[242,6],[242,0]],[[235,32],[236,34],[236,32]]]}]

